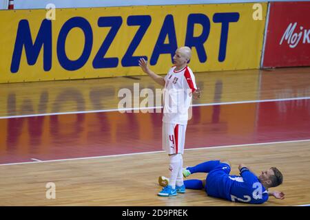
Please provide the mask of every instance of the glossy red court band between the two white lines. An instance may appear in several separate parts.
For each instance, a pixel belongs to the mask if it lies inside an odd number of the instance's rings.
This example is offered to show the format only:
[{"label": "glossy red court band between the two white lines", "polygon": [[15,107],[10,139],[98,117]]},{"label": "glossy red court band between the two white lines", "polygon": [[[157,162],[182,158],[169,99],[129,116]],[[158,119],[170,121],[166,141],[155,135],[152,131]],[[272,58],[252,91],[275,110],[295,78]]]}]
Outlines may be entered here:
[{"label": "glossy red court band between the two white lines", "polygon": [[[310,99],[193,107],[185,148],[310,139]],[[0,164],[161,151],[161,113],[0,120]]]}]

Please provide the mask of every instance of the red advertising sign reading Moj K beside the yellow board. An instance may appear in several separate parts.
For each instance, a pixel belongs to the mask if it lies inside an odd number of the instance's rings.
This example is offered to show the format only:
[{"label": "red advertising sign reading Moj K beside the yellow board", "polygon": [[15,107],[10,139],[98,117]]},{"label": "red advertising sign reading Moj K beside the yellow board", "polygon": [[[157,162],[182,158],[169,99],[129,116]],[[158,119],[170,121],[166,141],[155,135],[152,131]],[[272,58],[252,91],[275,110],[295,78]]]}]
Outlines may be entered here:
[{"label": "red advertising sign reading Moj K beside the yellow board", "polygon": [[310,66],[310,2],[270,3],[263,67]]}]

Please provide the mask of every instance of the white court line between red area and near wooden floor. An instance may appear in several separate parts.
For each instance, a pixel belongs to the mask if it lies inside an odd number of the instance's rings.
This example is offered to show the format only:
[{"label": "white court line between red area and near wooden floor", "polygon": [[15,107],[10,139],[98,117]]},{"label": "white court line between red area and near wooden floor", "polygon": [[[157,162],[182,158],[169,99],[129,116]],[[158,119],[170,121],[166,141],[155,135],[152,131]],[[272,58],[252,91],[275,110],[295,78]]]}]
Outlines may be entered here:
[{"label": "white court line between red area and near wooden floor", "polygon": [[[195,151],[201,149],[214,149],[214,148],[228,148],[228,147],[237,147],[237,146],[250,146],[250,145],[267,145],[267,144],[285,144],[285,143],[293,143],[293,142],[309,142],[310,139],[306,140],[289,140],[283,142],[265,142],[265,143],[254,143],[254,144],[236,144],[236,145],[226,145],[226,146],[207,146],[200,148],[190,148],[185,149],[185,151]],[[70,160],[78,160],[78,159],[97,159],[97,158],[105,158],[105,157],[123,157],[130,155],[139,155],[139,154],[150,154],[150,153],[163,153],[165,151],[152,151],[152,152],[142,152],[142,153],[126,153],[126,154],[118,154],[118,155],[105,155],[105,156],[96,156],[96,157],[77,157],[77,158],[68,158],[68,159],[50,159],[50,160],[41,160],[38,162],[19,162],[19,163],[10,163],[10,164],[0,164],[0,166],[8,166],[8,165],[17,165],[17,164],[39,164],[46,162],[61,162],[61,161],[70,161]]]}]

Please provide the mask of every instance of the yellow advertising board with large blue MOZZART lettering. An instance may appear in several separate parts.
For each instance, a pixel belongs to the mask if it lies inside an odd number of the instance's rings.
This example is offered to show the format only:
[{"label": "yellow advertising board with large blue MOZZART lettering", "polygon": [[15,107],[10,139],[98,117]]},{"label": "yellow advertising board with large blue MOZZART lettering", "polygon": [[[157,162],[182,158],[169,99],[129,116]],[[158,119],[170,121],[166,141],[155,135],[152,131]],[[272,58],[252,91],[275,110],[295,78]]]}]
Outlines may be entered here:
[{"label": "yellow advertising board with large blue MOZZART lettering", "polygon": [[[0,83],[166,74],[177,47],[194,72],[259,67],[267,3],[0,11]],[[53,16],[51,16],[51,14]]]}]

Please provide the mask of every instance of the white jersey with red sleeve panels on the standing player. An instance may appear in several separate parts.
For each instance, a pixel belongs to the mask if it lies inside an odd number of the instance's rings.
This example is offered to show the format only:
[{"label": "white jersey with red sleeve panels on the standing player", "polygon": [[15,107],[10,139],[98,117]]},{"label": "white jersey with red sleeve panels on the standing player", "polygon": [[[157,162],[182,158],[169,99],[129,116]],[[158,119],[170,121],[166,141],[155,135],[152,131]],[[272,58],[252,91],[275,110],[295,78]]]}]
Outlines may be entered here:
[{"label": "white jersey with red sleeve panels on the standing player", "polygon": [[165,76],[163,91],[163,122],[169,124],[187,124],[188,109],[192,103],[192,93],[197,89],[192,69],[184,67],[175,71],[169,69]]}]

